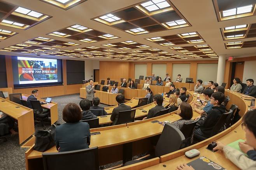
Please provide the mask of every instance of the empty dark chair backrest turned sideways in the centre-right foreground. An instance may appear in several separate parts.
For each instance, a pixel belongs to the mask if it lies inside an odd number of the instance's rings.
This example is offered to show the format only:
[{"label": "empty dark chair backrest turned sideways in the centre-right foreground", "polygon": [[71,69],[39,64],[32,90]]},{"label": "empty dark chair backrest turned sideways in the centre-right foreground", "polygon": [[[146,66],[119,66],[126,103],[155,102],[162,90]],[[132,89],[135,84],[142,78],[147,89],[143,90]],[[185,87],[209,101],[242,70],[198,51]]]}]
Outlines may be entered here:
[{"label": "empty dark chair backrest turned sideways in the centre-right foreground", "polygon": [[184,135],[178,128],[166,123],[156,144],[155,156],[160,157],[179,150],[184,139]]}]

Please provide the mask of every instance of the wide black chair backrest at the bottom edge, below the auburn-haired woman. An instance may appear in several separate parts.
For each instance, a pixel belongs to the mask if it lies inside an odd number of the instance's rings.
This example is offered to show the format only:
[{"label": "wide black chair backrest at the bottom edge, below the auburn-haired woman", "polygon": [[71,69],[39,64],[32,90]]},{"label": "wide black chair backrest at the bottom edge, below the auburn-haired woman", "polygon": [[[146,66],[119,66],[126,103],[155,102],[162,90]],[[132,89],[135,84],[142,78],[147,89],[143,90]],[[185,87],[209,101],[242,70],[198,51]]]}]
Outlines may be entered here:
[{"label": "wide black chair backrest at the bottom edge, below the auburn-haired woman", "polygon": [[98,147],[42,155],[44,170],[99,170]]}]

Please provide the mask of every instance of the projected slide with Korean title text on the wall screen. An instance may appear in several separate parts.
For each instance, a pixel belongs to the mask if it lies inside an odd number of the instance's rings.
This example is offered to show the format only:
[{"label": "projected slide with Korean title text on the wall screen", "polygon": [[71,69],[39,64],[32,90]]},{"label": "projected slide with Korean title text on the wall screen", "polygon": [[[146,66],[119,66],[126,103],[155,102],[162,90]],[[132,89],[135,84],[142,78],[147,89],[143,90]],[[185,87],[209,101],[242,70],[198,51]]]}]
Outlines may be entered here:
[{"label": "projected slide with Korean title text on the wall screen", "polygon": [[56,59],[18,58],[19,84],[58,82]]}]

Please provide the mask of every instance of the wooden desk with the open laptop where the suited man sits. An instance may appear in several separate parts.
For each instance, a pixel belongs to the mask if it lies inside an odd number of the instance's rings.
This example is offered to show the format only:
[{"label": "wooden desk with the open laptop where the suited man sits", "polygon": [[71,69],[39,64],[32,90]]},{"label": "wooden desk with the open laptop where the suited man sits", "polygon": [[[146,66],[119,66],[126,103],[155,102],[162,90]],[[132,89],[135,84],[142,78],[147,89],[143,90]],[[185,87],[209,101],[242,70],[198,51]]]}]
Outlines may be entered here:
[{"label": "wooden desk with the open laptop where the suited man sits", "polygon": [[[27,95],[27,94],[22,94],[22,99],[23,100],[27,100],[28,99],[28,97],[29,97],[29,95]],[[39,101],[43,101],[43,102],[45,102],[45,100],[44,99],[40,99],[40,98],[37,98],[37,100],[39,100]],[[43,108],[46,108],[46,109],[49,109],[50,110],[50,112],[51,112],[51,125],[53,124],[53,123],[55,123],[57,120],[58,120],[58,103],[55,103],[55,102],[50,102],[50,103],[48,103],[48,104],[42,104],[41,105]]]}]

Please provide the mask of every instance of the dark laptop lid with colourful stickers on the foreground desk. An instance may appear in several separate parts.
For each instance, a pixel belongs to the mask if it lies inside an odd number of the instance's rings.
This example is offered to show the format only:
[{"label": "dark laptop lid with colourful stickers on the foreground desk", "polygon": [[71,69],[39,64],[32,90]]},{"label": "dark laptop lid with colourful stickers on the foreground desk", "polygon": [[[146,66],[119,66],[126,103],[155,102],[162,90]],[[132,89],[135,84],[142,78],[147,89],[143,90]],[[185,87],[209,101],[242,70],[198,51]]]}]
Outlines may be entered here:
[{"label": "dark laptop lid with colourful stickers on the foreground desk", "polygon": [[201,156],[200,158],[187,163],[187,165],[192,166],[195,170],[225,170],[225,168],[214,163],[205,156]]}]

